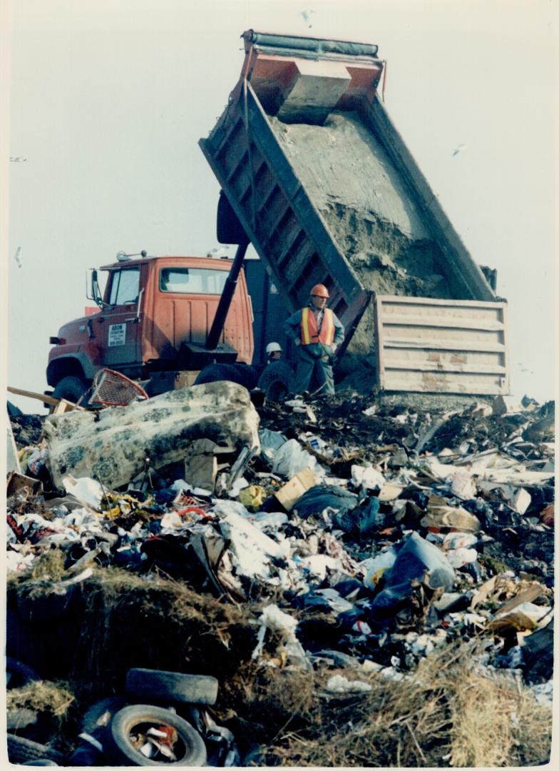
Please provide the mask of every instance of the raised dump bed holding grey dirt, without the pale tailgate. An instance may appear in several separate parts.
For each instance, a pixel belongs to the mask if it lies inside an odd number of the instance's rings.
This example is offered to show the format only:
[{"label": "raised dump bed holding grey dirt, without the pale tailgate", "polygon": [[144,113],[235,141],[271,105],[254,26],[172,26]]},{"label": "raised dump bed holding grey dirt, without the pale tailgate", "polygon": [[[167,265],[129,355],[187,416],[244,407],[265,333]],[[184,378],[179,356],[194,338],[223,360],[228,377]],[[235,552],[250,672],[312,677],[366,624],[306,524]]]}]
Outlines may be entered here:
[{"label": "raised dump bed holding grey dirt, without the pale tailgate", "polygon": [[348,352],[374,362],[373,295],[495,301],[377,99],[377,46],[243,39],[239,82],[200,146],[286,308],[326,284]]}]

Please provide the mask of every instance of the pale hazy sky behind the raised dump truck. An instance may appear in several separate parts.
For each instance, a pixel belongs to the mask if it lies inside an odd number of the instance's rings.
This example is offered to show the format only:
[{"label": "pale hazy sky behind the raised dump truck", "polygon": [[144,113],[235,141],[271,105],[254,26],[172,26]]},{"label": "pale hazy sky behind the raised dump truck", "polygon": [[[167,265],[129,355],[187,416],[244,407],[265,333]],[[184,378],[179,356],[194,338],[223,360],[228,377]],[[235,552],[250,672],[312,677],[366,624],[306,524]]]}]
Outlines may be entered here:
[{"label": "pale hazy sky behind the raised dump truck", "polygon": [[87,268],[121,250],[216,247],[219,185],[198,140],[253,28],[379,45],[390,116],[474,261],[497,268],[511,391],[554,397],[556,0],[18,0],[4,12],[8,385],[47,388],[49,336],[91,304]]}]

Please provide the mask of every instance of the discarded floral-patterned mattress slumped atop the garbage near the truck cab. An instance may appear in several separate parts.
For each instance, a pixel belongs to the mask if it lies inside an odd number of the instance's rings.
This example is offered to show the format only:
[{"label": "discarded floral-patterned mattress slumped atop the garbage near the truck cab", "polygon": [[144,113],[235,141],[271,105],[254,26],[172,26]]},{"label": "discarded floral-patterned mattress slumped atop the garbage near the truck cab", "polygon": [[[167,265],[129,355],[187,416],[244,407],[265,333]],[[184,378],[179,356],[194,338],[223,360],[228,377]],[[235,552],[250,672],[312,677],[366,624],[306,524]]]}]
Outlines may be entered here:
[{"label": "discarded floral-patterned mattress slumped atop the garbage near the truck cab", "polygon": [[206,383],[176,389],[129,406],[48,416],[44,432],[55,488],[62,476],[92,476],[112,489],[146,465],[181,458],[208,432],[216,444],[259,447],[258,416],[243,386]]}]

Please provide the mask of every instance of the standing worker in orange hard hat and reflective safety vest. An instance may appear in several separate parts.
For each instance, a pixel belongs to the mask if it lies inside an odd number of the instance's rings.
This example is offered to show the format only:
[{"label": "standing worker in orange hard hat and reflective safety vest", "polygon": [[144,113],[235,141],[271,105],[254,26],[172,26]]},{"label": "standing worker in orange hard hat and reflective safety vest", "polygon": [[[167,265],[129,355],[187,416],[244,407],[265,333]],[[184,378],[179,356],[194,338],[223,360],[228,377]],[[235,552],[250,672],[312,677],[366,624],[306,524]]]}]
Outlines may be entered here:
[{"label": "standing worker in orange hard hat and reflective safety vest", "polygon": [[313,393],[334,393],[332,361],[344,332],[339,318],[326,308],[329,297],[324,284],[316,284],[310,290],[309,305],[296,311],[283,325],[283,332],[297,346],[294,385],[297,394],[309,390],[313,375],[316,378]]}]

